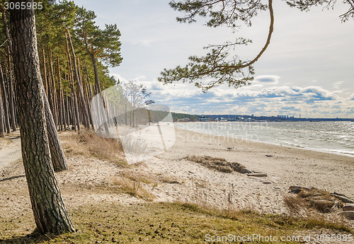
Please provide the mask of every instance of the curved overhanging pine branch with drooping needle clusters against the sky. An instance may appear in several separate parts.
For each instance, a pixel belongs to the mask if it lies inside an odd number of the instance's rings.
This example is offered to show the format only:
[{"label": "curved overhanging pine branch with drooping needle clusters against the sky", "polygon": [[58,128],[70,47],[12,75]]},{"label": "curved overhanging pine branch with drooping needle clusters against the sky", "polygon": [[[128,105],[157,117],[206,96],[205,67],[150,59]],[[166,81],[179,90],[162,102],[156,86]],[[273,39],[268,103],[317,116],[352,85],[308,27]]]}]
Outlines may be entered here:
[{"label": "curved overhanging pine branch with drooping needle clusters against the sky", "polygon": [[[209,4],[218,4],[219,2],[220,1],[207,1],[205,5],[210,6]],[[249,5],[247,8],[239,8],[239,1],[232,2],[234,4],[232,6],[232,11],[228,11],[230,15],[234,14],[235,11],[240,11],[240,9],[242,9],[242,11],[251,11],[251,13],[247,13],[247,16],[255,16],[256,12],[253,13],[253,10],[259,10],[261,8],[264,8],[263,5],[256,6],[256,4],[261,4],[260,1],[250,1],[253,4]],[[222,3],[225,4],[225,1],[222,1]],[[191,3],[190,1],[187,1],[185,4]],[[230,1],[226,1],[226,4],[230,4]],[[181,5],[178,5],[178,3],[173,6],[179,10],[184,9]],[[198,8],[198,11],[202,11],[202,6],[195,6],[195,8]],[[190,63],[183,68],[181,66],[177,66],[175,69],[164,69],[164,71],[161,72],[161,77],[159,78],[159,81],[165,84],[173,83],[174,81],[195,83],[195,86],[197,86],[198,88],[202,88],[203,92],[207,92],[210,88],[222,83],[227,83],[229,86],[233,86],[234,88],[238,88],[239,86],[248,84],[249,81],[253,80],[252,75],[254,74],[254,71],[252,64],[257,62],[257,60],[265,52],[265,50],[270,44],[270,39],[273,33],[273,0],[268,1],[268,9],[270,13],[270,27],[268,31],[268,37],[261,52],[259,52],[256,57],[251,61],[244,62],[237,56],[234,56],[231,61],[227,61],[227,59],[229,58],[229,50],[232,47],[235,47],[236,45],[246,45],[247,43],[251,42],[251,40],[239,38],[236,40],[236,42],[225,42],[223,45],[210,45],[209,47],[205,47],[207,49],[211,49],[211,51],[206,54],[205,57],[189,57]],[[226,10],[223,7],[221,11]],[[214,13],[214,11],[212,13]],[[193,21],[196,14],[197,13],[193,11],[192,13],[190,13],[189,16],[186,16],[184,20]],[[206,13],[202,12],[202,14]],[[242,15],[244,15],[244,13],[242,13]],[[226,24],[234,28],[234,26],[236,26],[235,19],[237,18],[235,16],[229,16],[229,18],[234,18],[232,24],[228,23],[227,21],[215,22],[211,20],[207,23],[207,25],[210,25],[210,23],[215,23],[215,25]],[[247,19],[242,19],[242,21],[245,21],[249,24],[251,23],[249,17]],[[205,83],[205,79],[211,80]]]}]

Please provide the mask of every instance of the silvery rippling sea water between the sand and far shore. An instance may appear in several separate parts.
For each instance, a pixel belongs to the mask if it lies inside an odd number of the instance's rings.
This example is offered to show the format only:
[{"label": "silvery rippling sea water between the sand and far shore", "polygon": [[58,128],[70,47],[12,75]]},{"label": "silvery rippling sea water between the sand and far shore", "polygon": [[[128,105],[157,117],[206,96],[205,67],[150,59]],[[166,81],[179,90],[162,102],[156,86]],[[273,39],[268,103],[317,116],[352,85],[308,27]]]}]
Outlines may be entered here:
[{"label": "silvery rippling sea water between the sand and far shore", "polygon": [[181,122],[176,127],[239,140],[354,157],[354,122]]}]

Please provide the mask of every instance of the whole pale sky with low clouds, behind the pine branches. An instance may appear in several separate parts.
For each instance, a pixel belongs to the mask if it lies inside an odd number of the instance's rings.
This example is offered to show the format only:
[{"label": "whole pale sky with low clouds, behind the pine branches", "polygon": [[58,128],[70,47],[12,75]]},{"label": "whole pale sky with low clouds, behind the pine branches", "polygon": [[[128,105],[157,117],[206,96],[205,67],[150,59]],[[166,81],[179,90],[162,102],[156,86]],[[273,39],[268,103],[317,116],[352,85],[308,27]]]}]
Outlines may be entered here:
[{"label": "whole pale sky with low clouds, behind the pine branches", "polygon": [[96,24],[116,23],[121,32],[122,64],[110,68],[120,81],[135,80],[147,87],[156,104],[173,112],[191,114],[294,115],[295,117],[354,118],[354,20],[338,17],[348,6],[316,6],[310,11],[273,4],[275,26],[270,45],[254,65],[255,79],[242,88],[218,86],[202,93],[193,84],[157,81],[163,69],[184,66],[202,47],[237,37],[253,40],[235,50],[241,59],[253,59],[265,44],[269,14],[253,18],[251,27],[208,28],[205,19],[177,23],[183,13],[169,0],[74,0],[96,13]]}]

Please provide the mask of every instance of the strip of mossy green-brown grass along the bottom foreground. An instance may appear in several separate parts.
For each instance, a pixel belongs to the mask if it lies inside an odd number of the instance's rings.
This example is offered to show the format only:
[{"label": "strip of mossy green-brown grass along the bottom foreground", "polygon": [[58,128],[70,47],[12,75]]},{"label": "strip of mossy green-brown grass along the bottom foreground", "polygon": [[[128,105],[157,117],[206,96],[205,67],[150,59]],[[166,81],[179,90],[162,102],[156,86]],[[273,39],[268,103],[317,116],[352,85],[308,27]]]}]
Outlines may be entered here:
[{"label": "strip of mossy green-brown grass along the bottom foreground", "polygon": [[[319,219],[294,219],[253,211],[217,211],[194,204],[98,204],[69,209],[75,233],[38,235],[30,211],[21,221],[0,218],[0,243],[205,243],[205,235],[292,236],[312,228],[353,233],[346,226]],[[5,227],[6,226],[6,227]],[[30,226],[30,227],[28,227]],[[2,232],[6,228],[6,231]],[[13,233],[16,233],[13,236]],[[30,234],[30,236],[26,236]],[[2,241],[1,241],[2,240]],[[277,242],[272,242],[277,243]],[[296,242],[279,242],[296,243]]]}]

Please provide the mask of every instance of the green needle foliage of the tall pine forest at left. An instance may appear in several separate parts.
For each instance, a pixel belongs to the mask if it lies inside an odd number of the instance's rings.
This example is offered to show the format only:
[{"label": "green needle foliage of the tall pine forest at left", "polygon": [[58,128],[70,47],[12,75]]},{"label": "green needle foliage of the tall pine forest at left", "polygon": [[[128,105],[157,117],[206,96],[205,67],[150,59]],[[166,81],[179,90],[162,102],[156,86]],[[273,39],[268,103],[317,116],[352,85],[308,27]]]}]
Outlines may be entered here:
[{"label": "green needle foliage of the tall pine forest at left", "polygon": [[[88,75],[86,79],[91,82],[91,86],[95,87],[91,53],[95,53],[96,59],[98,59],[97,69],[101,89],[104,90],[118,83],[113,76],[109,75],[108,71],[108,66],[118,66],[122,62],[120,32],[116,24],[108,24],[105,26],[105,30],[101,30],[95,25],[96,14],[93,11],[87,11],[84,7],[76,6],[74,1],[67,0],[59,1],[54,5],[44,1],[43,8],[36,10],[35,17],[41,67],[43,66],[41,59],[43,50],[46,57],[49,57],[50,52],[53,59],[56,60],[59,57],[64,92],[70,93],[71,91],[67,64],[66,28],[72,37],[76,57],[81,66],[81,75]],[[86,37],[87,39],[85,39]],[[2,35],[0,38],[0,42],[4,42]],[[99,51],[97,52],[97,50]],[[56,62],[53,62],[53,65],[57,70]],[[43,76],[44,72],[41,72]]]}]

